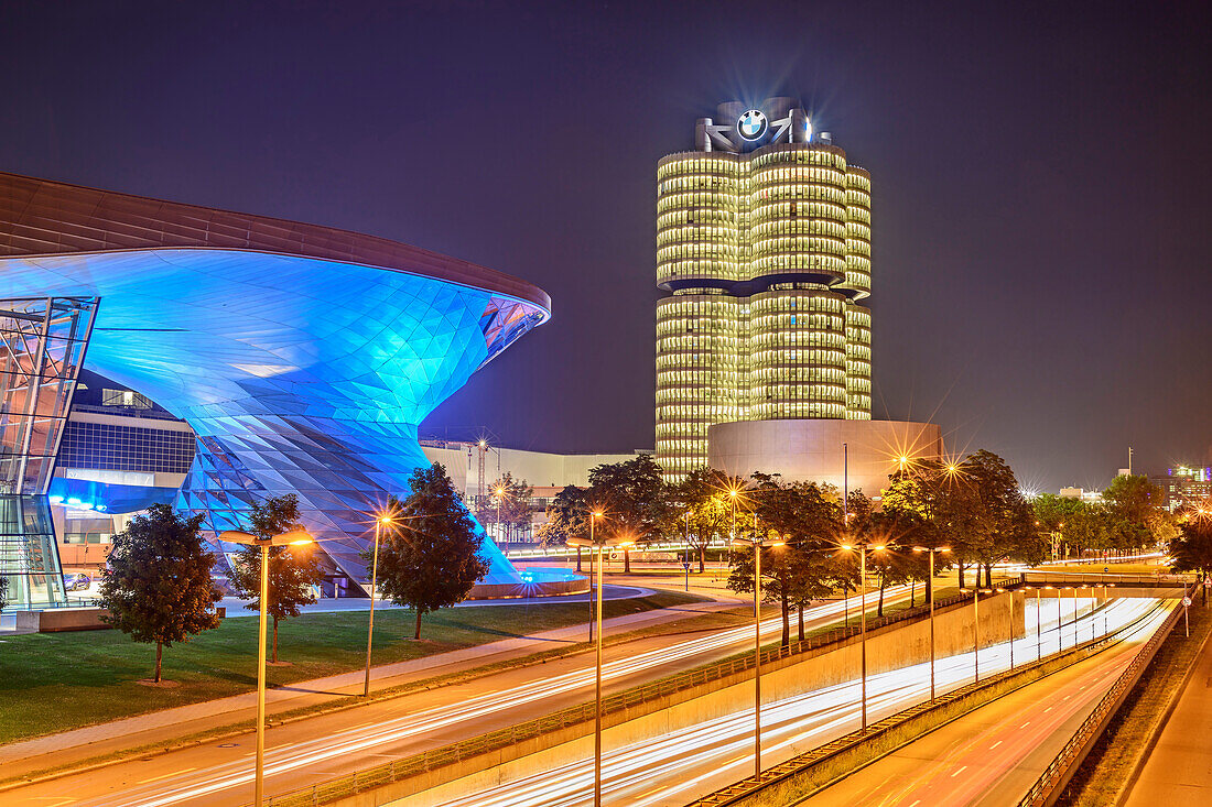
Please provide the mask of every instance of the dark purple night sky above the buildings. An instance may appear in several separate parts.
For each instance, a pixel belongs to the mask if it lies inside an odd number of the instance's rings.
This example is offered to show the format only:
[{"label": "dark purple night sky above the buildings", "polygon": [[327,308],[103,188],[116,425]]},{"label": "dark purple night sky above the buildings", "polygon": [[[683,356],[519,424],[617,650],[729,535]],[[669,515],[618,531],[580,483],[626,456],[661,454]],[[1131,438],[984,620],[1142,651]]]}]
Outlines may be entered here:
[{"label": "dark purple night sky above the buildings", "polygon": [[[652,446],[657,160],[799,96],[874,187],[876,417],[1212,464],[1207,4],[0,2],[0,170],[396,239],[549,324],[425,423]],[[773,470],[773,469],[772,469]]]}]

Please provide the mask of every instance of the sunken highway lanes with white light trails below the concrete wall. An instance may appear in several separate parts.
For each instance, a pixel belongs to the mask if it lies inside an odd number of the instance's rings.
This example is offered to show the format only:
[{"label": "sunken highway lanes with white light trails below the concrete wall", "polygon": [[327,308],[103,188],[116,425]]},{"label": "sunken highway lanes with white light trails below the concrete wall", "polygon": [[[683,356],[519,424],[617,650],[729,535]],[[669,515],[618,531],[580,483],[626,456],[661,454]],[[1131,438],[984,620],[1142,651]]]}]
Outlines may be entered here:
[{"label": "sunken highway lanes with white light trails below the concrete wall", "polygon": [[[1088,600],[1087,600],[1088,605]],[[1156,609],[1153,600],[1111,601],[1103,609],[1081,617],[1076,623],[1082,639],[1088,637],[1090,624],[1102,633],[1105,617],[1114,630]],[[1056,607],[1046,603],[1041,613],[1042,651],[1045,654],[1058,648]],[[1160,623],[1161,616],[1154,617]],[[1013,643],[1014,658],[1035,658],[1035,609],[1028,600],[1029,634]],[[1071,642],[1067,623],[1064,645]],[[1151,631],[1142,631],[1139,641]],[[1138,643],[1138,642],[1137,642]],[[1133,647],[1137,646],[1133,645]],[[1121,647],[1124,647],[1121,645]],[[1126,658],[1124,651],[1116,659]],[[1010,643],[981,651],[982,674],[1006,669],[1010,663]],[[972,653],[953,656],[937,665],[941,692],[955,689],[972,681]],[[1075,685],[1085,686],[1091,694],[1108,680],[1105,676]],[[1108,672],[1109,675],[1109,672]],[[1051,685],[1045,683],[1045,689]],[[919,664],[868,679],[869,719],[874,722],[930,697],[930,665]],[[1062,696],[1063,697],[1063,696]],[[765,766],[790,759],[831,739],[859,728],[859,683],[847,683],[817,689],[802,696],[762,705],[762,759]],[[1019,721],[1019,725],[1024,721]],[[983,750],[983,749],[982,749]],[[1019,746],[1022,750],[1022,746]],[[743,779],[753,769],[753,710],[699,723],[692,728],[664,737],[645,740],[623,748],[607,749],[604,757],[604,802],[612,806],[631,807],[681,807],[682,805]],[[583,807],[591,803],[593,761],[590,757],[570,763],[541,775],[499,782],[491,788],[468,792],[461,797],[436,802],[444,807]],[[911,800],[910,800],[911,801]],[[430,803],[430,802],[427,802]],[[850,801],[856,803],[880,803],[877,801]],[[899,803],[899,802],[887,802]],[[907,805],[910,802],[905,802]],[[922,805],[942,803],[922,801]],[[966,803],[966,802],[956,802]]]}]

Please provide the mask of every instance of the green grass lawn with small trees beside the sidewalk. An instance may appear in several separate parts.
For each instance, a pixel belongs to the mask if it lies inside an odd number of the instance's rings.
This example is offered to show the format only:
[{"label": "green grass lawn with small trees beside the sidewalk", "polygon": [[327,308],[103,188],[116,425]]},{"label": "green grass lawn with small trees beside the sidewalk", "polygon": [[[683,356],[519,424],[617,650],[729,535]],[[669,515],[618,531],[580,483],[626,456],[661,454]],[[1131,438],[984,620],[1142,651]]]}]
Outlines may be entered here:
[{"label": "green grass lawn with small trees beside the sidewalk", "polygon": [[[698,602],[702,597],[658,591],[608,600],[605,616]],[[375,614],[375,664],[526,636],[584,622],[585,603],[447,608],[422,620],[411,641],[411,611]],[[303,614],[280,624],[279,659],[269,686],[361,669],[366,662],[366,612]],[[164,677],[175,688],[145,687],[155,645],[132,642],[118,630],[29,634],[0,640],[0,744],[107,722],[159,709],[250,692],[257,685],[257,618],[233,617],[184,645],[164,651]],[[439,671],[435,670],[435,674]]]}]

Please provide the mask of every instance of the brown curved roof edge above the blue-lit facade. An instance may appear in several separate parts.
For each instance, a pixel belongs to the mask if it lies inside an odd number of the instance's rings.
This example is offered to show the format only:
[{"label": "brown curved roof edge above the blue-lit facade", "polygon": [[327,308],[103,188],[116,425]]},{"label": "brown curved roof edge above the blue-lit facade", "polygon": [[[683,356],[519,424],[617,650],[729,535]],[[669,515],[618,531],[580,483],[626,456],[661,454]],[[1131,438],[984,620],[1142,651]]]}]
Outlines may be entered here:
[{"label": "brown curved roof edge above the blue-lit facade", "polygon": [[0,172],[0,258],[153,247],[251,250],[359,263],[551,310],[551,298],[533,284],[376,235]]}]

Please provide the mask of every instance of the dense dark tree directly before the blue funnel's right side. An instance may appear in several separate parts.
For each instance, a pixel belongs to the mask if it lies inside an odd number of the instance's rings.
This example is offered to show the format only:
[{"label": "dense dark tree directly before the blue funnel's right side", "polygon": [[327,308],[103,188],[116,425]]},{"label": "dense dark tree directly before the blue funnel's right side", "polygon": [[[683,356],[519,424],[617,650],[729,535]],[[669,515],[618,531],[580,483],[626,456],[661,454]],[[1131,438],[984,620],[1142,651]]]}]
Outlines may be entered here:
[{"label": "dense dark tree directly before the blue funnel's right side", "polygon": [[[488,573],[488,562],[479,554],[475,522],[441,464],[412,471],[408,487],[408,497],[393,503],[399,517],[381,534],[378,579],[391,602],[417,612],[412,637],[421,639],[421,618],[467,599]],[[370,562],[371,550],[362,556]]]}]

